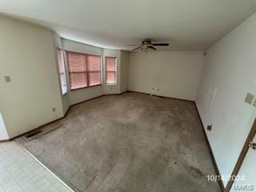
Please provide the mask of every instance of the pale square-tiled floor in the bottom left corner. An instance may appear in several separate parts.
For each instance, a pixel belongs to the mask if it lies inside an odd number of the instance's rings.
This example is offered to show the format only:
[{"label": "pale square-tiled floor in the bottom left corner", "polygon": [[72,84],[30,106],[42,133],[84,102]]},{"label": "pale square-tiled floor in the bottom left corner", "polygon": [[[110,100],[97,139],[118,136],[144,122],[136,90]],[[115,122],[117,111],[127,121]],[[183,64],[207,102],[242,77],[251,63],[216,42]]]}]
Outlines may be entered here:
[{"label": "pale square-tiled floor in the bottom left corner", "polygon": [[16,142],[0,143],[0,192],[74,192]]}]

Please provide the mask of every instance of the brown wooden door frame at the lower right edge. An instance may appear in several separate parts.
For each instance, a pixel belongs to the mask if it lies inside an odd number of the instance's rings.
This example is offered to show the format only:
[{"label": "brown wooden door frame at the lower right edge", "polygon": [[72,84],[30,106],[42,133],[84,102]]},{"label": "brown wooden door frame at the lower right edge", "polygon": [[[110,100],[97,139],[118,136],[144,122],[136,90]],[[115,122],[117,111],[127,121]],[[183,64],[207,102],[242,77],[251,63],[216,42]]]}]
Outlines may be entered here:
[{"label": "brown wooden door frame at the lower right edge", "polygon": [[[255,134],[256,134],[256,118],[254,120],[253,126],[250,129],[250,133],[248,134],[248,136],[246,138],[246,142],[245,142],[244,146],[242,147],[242,151],[239,154],[238,161],[236,162],[236,164],[234,166],[234,170],[231,174],[231,178],[234,178],[238,175],[238,171],[240,170],[240,168],[242,166],[242,162],[246,158],[246,154],[250,148],[250,146],[249,146],[250,142],[253,141]],[[224,192],[229,192],[231,187],[233,186],[233,183],[234,183],[234,179],[230,179],[230,181],[226,185]]]}]

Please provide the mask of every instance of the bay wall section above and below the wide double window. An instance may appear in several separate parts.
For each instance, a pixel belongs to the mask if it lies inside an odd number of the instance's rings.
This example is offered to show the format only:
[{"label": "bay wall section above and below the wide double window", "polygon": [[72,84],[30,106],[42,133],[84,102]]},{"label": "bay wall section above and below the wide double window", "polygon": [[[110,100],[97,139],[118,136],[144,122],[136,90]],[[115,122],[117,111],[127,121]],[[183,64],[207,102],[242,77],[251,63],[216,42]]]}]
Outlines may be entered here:
[{"label": "bay wall section above and below the wide double window", "polygon": [[[102,48],[99,48],[96,46],[89,46],[80,42],[74,42],[67,39],[62,39],[62,48],[63,50],[70,50],[78,53],[102,55]],[[102,86],[93,86],[93,87],[86,87],[84,89],[79,89],[79,90],[70,90],[68,73],[67,73],[67,81],[68,81],[69,93],[66,94],[66,97],[69,98],[70,105],[74,105],[78,102],[84,102],[90,98],[96,98],[103,94]]]}]

